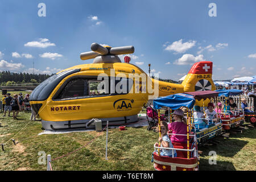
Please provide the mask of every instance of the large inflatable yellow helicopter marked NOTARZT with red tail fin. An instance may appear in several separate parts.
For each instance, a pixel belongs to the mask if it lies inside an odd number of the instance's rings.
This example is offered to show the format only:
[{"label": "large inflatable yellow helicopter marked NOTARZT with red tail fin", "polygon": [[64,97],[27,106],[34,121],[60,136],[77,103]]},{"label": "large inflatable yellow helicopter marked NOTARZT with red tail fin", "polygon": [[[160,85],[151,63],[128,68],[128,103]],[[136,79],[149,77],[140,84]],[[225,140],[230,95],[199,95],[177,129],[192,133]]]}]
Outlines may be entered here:
[{"label": "large inflatable yellow helicopter marked NOTARZT with red tail fin", "polygon": [[133,46],[112,48],[93,43],[91,49],[80,57],[94,59],[92,64],[56,73],[32,92],[30,104],[42,118],[44,129],[89,129],[93,118],[101,119],[102,125],[106,121],[137,122],[154,90],[157,96],[215,90],[210,61],[194,64],[182,84],[171,84],[150,78],[136,65],[122,63],[118,55],[134,53]]}]

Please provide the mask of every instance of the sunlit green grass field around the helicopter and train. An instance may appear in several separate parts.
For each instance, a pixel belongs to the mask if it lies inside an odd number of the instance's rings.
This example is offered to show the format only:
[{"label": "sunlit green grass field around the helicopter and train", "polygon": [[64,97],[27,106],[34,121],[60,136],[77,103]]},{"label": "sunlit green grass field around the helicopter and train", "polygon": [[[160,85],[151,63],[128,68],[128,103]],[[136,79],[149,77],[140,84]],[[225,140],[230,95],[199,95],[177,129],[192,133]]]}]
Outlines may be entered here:
[{"label": "sunlit green grass field around the helicopter and train", "polygon": [[[11,114],[12,115],[12,114]],[[14,138],[0,149],[0,170],[46,170],[46,165],[39,164],[39,151],[51,154],[52,159],[83,146],[97,135],[93,143],[65,158],[52,162],[53,170],[154,170],[151,163],[153,145],[158,134],[147,131],[146,127],[109,130],[108,159],[105,160],[106,132],[95,131],[59,135],[40,135],[42,126],[39,121],[30,122],[30,113],[20,113],[18,119],[3,118],[0,114],[0,143]],[[30,122],[30,123],[29,123]],[[27,125],[28,124],[28,125]],[[26,126],[18,135],[19,130]],[[245,130],[242,134],[221,138],[215,146],[200,147],[200,170],[256,170],[256,132]],[[210,165],[209,151],[216,151],[217,164]]]}]

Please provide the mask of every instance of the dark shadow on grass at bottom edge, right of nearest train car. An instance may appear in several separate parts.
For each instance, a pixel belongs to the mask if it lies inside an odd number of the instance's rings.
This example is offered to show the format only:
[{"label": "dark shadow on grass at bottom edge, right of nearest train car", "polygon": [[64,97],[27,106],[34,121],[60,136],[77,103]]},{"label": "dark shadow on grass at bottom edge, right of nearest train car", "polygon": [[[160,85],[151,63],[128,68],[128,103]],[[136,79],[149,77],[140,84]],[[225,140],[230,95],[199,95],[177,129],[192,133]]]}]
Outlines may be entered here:
[{"label": "dark shadow on grass at bottom edge, right of nearest train car", "polygon": [[199,164],[200,171],[236,171],[230,162],[217,160],[216,164],[209,164],[208,159],[201,159]]}]

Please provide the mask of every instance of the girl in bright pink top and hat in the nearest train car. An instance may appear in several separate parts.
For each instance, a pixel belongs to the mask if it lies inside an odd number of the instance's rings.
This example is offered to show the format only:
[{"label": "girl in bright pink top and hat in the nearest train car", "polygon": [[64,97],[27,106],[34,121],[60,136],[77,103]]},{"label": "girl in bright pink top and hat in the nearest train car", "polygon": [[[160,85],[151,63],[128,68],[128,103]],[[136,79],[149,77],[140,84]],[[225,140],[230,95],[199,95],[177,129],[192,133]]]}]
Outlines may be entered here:
[{"label": "girl in bright pink top and hat in the nearest train car", "polygon": [[172,135],[171,142],[180,142],[187,143],[187,120],[184,118],[183,110],[177,109],[172,114],[175,122],[169,123],[168,130],[172,131],[172,134],[183,134],[180,135]]}]

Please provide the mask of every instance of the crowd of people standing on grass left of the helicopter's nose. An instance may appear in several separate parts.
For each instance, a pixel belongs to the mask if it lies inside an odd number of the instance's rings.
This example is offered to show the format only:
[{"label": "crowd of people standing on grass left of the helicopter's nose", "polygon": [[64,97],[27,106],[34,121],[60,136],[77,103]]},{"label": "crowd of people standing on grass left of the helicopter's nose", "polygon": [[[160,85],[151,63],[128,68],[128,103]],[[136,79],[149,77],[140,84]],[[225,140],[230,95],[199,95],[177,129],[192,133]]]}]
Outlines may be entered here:
[{"label": "crowd of people standing on grass left of the helicopter's nose", "polygon": [[[23,98],[23,94],[14,94],[13,97],[11,97],[10,93],[7,93],[2,98],[2,110],[3,110],[3,117],[6,117],[7,111],[8,111],[8,117],[11,117],[11,112],[13,113],[13,119],[18,119],[17,116],[20,111],[31,111],[30,107],[30,94],[26,94]],[[31,120],[36,120],[35,113],[32,112],[31,114]]]}]

